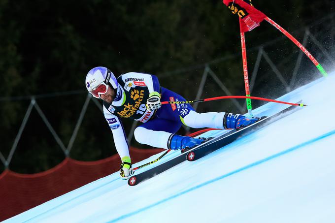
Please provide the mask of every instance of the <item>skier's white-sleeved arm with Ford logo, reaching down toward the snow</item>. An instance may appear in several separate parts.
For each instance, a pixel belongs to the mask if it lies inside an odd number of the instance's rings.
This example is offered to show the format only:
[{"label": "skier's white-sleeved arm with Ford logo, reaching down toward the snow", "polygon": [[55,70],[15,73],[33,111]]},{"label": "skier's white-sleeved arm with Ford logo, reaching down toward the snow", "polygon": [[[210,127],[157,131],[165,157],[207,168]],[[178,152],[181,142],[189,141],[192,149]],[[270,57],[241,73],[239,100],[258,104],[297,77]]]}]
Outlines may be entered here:
[{"label": "skier's white-sleeved arm with Ford logo, reaching down toward the snow", "polygon": [[128,157],[130,159],[127,137],[121,120],[117,116],[112,115],[105,107],[103,107],[103,114],[113,133],[114,144],[120,158]]}]

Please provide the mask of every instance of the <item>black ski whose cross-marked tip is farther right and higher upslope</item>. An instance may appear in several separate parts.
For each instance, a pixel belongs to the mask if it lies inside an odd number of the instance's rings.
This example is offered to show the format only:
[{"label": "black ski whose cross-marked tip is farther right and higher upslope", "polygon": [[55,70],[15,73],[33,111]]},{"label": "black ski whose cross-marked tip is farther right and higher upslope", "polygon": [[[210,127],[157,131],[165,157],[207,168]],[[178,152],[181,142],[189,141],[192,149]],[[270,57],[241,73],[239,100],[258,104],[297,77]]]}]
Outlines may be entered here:
[{"label": "black ski whose cross-marked tip is farther right and higher upslope", "polygon": [[[301,101],[300,101],[301,102]],[[298,102],[298,103],[300,103]],[[233,129],[232,131],[224,134],[224,135],[221,135],[217,138],[215,138],[214,140],[211,140],[210,142],[206,143],[206,144],[203,144],[201,145],[200,147],[198,148],[195,148],[194,150],[192,151],[188,151],[187,153],[187,157],[186,159],[188,161],[195,161],[197,159],[200,159],[230,143],[232,143],[233,141],[235,141],[238,137],[240,137],[241,135],[245,135],[245,134],[250,134],[254,131],[256,131],[256,129],[259,129],[260,127],[264,127],[266,126],[266,124],[269,124],[270,122],[273,122],[275,121],[275,119],[278,117],[278,116],[287,116],[291,113],[289,113],[289,111],[296,111],[298,109],[295,109],[297,108],[297,106],[294,106],[294,105],[291,105],[290,107],[274,114],[274,115],[271,115],[269,117],[266,117],[266,118],[263,118],[261,120],[259,120],[258,122],[250,125],[250,126],[247,126],[247,127],[243,127],[239,130],[236,130],[236,129]],[[281,118],[282,118],[281,117]]]}]

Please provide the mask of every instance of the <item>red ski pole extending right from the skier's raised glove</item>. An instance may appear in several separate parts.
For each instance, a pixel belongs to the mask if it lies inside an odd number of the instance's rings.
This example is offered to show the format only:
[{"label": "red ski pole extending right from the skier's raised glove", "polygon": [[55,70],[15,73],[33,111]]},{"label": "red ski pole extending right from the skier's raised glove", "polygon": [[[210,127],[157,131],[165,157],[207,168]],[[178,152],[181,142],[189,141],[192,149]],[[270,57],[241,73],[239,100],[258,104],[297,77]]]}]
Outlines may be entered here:
[{"label": "red ski pole extending right from the skier's raised glove", "polygon": [[220,99],[228,99],[228,98],[250,98],[255,100],[264,100],[264,101],[270,101],[280,104],[289,104],[289,105],[295,105],[295,106],[307,106],[306,104],[297,104],[297,103],[290,103],[286,101],[279,101],[279,100],[272,100],[264,97],[254,97],[254,96],[219,96],[219,97],[209,97],[199,100],[191,100],[191,101],[162,101],[162,104],[192,104],[192,103],[199,103],[204,101],[211,101],[211,100],[220,100]]}]

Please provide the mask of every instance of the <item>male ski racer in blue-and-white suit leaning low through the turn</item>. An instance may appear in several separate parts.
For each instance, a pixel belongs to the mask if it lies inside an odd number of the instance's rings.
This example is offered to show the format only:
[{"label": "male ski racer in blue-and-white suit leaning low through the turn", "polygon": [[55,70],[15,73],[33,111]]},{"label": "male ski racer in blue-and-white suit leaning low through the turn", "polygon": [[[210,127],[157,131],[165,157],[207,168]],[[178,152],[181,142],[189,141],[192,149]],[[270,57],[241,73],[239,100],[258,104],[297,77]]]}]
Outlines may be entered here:
[{"label": "male ski racer in blue-and-white suit leaning low through the turn", "polygon": [[88,72],[85,83],[92,96],[103,100],[103,114],[122,160],[120,176],[124,180],[134,171],[120,118],[143,123],[134,130],[137,142],[171,150],[192,148],[203,142],[174,134],[182,125],[238,129],[259,120],[225,112],[197,113],[190,104],[162,105],[161,100],[185,101],[185,98],[161,87],[157,76],[151,74],[129,72],[115,78],[108,68],[98,66]]}]

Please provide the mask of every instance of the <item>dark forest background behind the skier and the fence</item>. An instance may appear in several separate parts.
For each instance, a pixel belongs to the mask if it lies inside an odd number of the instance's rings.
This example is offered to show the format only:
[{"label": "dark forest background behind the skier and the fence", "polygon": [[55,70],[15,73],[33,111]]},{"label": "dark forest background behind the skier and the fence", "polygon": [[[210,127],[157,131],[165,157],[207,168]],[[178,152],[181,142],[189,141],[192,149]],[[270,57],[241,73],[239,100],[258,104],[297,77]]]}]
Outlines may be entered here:
[{"label": "dark forest background behind the skier and the fence", "polygon": [[[335,12],[334,0],[254,0],[253,3],[289,32],[310,27]],[[323,43],[334,46],[334,36],[325,32],[334,28],[314,27],[315,32],[324,32]],[[246,35],[248,49],[282,36],[266,22]],[[301,40],[303,31],[294,35]],[[308,49],[318,54],[317,48]],[[285,57],[289,60],[292,52],[299,52],[289,41],[267,50],[277,55],[278,61]],[[162,86],[193,99],[203,65],[239,52],[237,16],[221,0],[0,0],[0,152],[5,158],[9,155],[30,103],[30,99],[15,97],[36,96],[39,107],[67,146],[87,96],[84,80],[92,67],[107,66],[116,76],[130,71],[156,74]],[[256,57],[257,51],[248,51],[250,70]],[[292,73],[294,64],[288,64],[281,67]],[[308,67],[308,61],[306,64],[306,69],[315,69]],[[184,68],[185,72],[173,72]],[[212,68],[234,95],[244,94],[240,56]],[[270,69],[260,69],[261,81],[255,94],[280,96],[281,89],[267,87],[278,80],[262,79],[262,74],[270,75]],[[209,78],[202,96],[222,95],[216,88]],[[77,94],[37,97],[78,90]],[[234,112],[227,103],[208,102],[199,105],[199,111]],[[130,131],[132,121],[124,120],[124,124]],[[148,148],[134,140],[132,145]],[[97,160],[115,153],[112,134],[99,108],[91,101],[70,157]],[[10,169],[35,173],[57,165],[64,158],[33,109]],[[1,168],[0,171],[4,169]]]}]

